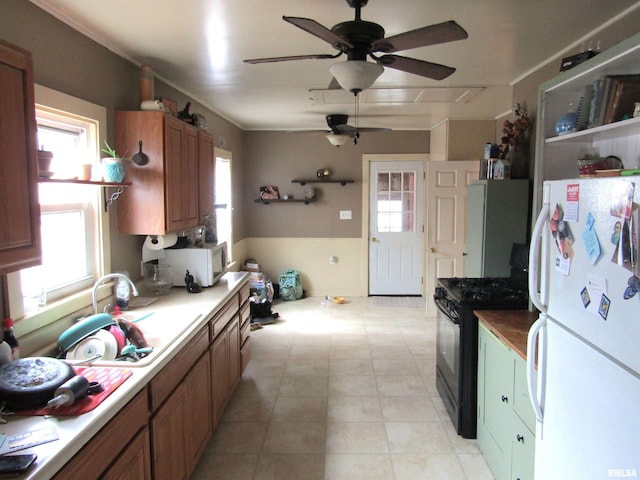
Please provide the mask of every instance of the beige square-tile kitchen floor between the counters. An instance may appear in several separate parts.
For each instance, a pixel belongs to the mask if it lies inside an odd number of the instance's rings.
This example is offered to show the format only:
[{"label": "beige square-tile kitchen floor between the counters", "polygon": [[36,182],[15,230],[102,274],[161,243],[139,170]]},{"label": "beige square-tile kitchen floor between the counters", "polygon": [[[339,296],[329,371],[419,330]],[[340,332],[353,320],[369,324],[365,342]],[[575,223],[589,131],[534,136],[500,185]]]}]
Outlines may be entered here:
[{"label": "beige square-tile kitchen floor between the counters", "polygon": [[274,305],[192,480],[493,479],[435,389],[421,298]]}]

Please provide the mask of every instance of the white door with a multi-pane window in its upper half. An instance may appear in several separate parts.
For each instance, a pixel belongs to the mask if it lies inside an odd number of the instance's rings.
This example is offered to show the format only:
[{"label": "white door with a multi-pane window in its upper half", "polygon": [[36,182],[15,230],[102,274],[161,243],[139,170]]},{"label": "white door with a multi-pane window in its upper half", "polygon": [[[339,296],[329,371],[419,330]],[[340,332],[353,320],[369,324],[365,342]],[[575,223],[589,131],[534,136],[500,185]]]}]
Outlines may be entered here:
[{"label": "white door with a multi-pane window in its upper half", "polygon": [[422,295],[424,164],[372,162],[369,185],[369,294]]}]

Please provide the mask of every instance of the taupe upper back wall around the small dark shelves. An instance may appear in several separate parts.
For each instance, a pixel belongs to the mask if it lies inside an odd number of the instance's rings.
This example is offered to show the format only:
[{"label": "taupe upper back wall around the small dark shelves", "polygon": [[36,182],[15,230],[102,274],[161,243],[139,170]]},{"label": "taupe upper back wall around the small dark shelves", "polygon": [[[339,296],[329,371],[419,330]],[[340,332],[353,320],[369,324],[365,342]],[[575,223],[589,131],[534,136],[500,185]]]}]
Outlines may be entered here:
[{"label": "taupe upper back wall around the small dark shelves", "polygon": [[[360,238],[362,155],[429,151],[429,133],[419,131],[363,133],[358,145],[347,143],[340,148],[312,133],[247,132],[245,138],[244,221],[247,237],[252,238]],[[291,183],[297,178],[314,178],[316,171],[325,167],[333,178],[350,178],[355,183],[304,187]],[[277,185],[281,194],[295,198],[303,198],[305,189],[313,187],[317,202],[255,203],[261,185]],[[340,210],[351,210],[352,219],[340,220]]]}]

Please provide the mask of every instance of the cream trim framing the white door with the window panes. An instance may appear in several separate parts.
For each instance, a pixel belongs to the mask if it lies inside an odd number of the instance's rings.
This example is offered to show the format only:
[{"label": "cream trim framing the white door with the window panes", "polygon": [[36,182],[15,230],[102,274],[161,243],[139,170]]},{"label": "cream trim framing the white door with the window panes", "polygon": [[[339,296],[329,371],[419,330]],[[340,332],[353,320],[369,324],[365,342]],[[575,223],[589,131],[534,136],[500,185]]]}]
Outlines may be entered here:
[{"label": "cream trim framing the white door with the window panes", "polygon": [[[362,290],[360,295],[362,297],[369,296],[369,216],[370,216],[370,208],[369,208],[369,189],[371,188],[369,182],[369,176],[371,174],[371,163],[372,162],[407,162],[407,161],[421,161],[423,162],[424,171],[426,172],[427,162],[429,161],[430,155],[428,153],[365,153],[362,155],[362,230],[360,235],[360,285],[362,286]],[[425,179],[422,179],[423,185],[425,183]],[[423,188],[423,192],[424,192]],[[426,195],[423,195],[423,206],[426,208],[427,199]],[[426,210],[423,208],[423,212]],[[423,214],[422,224],[425,225],[425,217]],[[424,243],[426,236],[426,232],[422,232],[422,244]],[[423,276],[425,269],[425,252],[424,248],[422,249],[422,268],[423,268]],[[422,296],[425,295],[425,284],[422,283]]]}]

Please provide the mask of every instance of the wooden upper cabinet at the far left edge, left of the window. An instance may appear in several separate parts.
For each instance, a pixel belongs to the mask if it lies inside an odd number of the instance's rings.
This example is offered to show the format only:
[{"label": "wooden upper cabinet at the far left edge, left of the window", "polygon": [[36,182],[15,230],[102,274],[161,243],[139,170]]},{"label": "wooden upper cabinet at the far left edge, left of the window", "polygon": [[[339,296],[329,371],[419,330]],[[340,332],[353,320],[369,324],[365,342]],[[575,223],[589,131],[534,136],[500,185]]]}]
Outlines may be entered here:
[{"label": "wooden upper cabinet at the far left edge, left of the window", "polygon": [[31,53],[0,40],[0,274],[42,263]]}]

